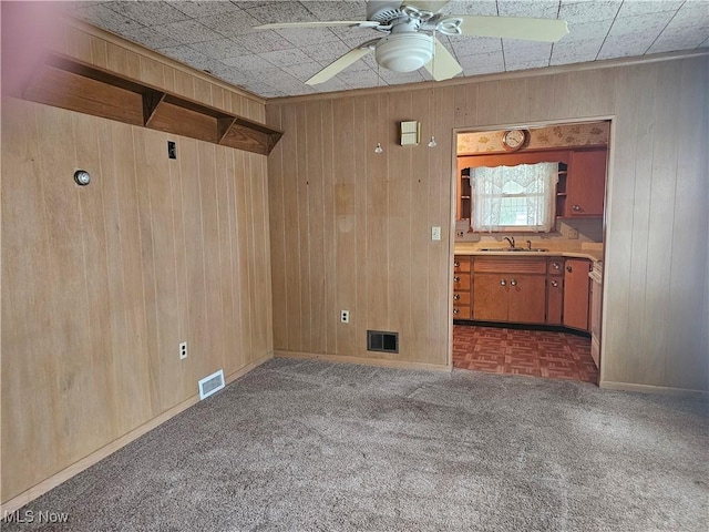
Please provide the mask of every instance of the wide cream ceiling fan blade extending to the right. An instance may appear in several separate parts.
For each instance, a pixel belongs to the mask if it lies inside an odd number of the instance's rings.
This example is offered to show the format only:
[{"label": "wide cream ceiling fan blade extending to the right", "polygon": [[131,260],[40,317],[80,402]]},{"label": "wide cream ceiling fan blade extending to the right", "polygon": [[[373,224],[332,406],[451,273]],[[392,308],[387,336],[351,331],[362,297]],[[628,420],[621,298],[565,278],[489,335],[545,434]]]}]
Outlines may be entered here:
[{"label": "wide cream ceiling fan blade extending to the right", "polygon": [[526,41],[556,42],[566,33],[565,20],[532,19],[526,17],[475,17],[453,14],[461,19],[463,35],[501,37],[503,39],[523,39]]}]

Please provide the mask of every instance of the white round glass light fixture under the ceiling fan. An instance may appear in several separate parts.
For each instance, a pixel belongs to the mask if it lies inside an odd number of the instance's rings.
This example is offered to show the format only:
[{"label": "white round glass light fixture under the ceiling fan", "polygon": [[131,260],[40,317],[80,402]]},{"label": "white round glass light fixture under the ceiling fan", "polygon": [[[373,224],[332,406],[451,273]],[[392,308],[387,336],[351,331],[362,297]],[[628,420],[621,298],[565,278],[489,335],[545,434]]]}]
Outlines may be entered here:
[{"label": "white round glass light fixture under the ceiling fan", "polygon": [[379,40],[377,62],[394,72],[413,72],[433,59],[433,37],[425,33],[392,33]]}]

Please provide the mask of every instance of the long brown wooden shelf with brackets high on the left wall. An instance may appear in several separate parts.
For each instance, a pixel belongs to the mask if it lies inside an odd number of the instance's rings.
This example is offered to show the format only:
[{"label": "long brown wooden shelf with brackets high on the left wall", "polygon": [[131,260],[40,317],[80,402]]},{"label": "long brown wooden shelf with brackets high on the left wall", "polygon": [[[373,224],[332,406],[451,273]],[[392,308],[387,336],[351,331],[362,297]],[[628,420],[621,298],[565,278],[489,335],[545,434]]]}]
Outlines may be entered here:
[{"label": "long brown wooden shelf with brackets high on the left wall", "polygon": [[22,96],[261,155],[268,155],[282,136],[264,124],[61,54],[47,57]]}]

